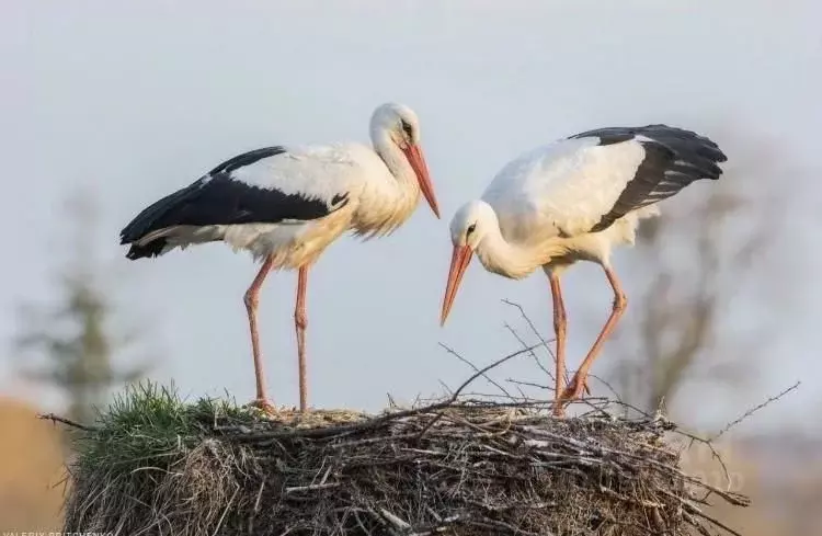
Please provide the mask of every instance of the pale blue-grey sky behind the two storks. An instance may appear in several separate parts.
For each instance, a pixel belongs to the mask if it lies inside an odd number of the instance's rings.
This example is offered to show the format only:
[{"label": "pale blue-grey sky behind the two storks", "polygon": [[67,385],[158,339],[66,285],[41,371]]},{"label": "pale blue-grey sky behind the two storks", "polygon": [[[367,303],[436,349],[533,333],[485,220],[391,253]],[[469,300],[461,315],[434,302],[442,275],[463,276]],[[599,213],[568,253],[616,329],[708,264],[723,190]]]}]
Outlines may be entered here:
[{"label": "pale blue-grey sky behind the two storks", "polygon": [[[173,377],[184,394],[225,388],[250,398],[241,299],[256,270],[250,258],[213,244],[129,262],[117,233],[145,205],[240,151],[367,140],[372,110],[393,100],[420,115],[443,220],[421,206],[396,235],[365,244],[346,238],[321,259],[308,294],[310,402],[376,410],[386,392],[399,400],[435,394],[438,380],[454,386],[467,374],[437,342],[477,363],[515,347],[503,323],[516,316],[501,298],[523,304],[550,332],[539,275],[511,282],[478,265],[448,324],[438,327],[447,223],[457,206],[535,145],[598,126],[664,122],[711,135],[732,158],[731,149],[751,153],[747,140],[772,140],[777,169],[801,171],[773,176],[796,192],[794,232],[784,237],[790,254],[781,262],[808,265],[791,272],[802,299],[778,323],[778,358],[745,396],[715,398],[698,419],[726,419],[804,375],[799,394],[758,420],[799,422],[807,404],[819,407],[822,381],[812,337],[822,312],[819,219],[809,212],[820,193],[820,20],[810,0],[4,2],[0,341],[14,332],[15,304],[49,297],[49,256],[62,254],[49,241],[65,230],[61,197],[92,185],[104,203],[96,240],[119,277],[118,303],[150,321],[169,356],[155,377]],[[618,254],[617,269],[629,256]],[[626,272],[628,292],[640,288]],[[260,318],[271,394],[292,403],[295,281],[289,273],[269,280]],[[585,266],[569,275],[566,296],[573,366],[610,295]],[[606,346],[597,372],[607,360]],[[10,360],[0,360],[0,392],[36,396],[10,374]],[[523,361],[498,377],[528,375]]]}]

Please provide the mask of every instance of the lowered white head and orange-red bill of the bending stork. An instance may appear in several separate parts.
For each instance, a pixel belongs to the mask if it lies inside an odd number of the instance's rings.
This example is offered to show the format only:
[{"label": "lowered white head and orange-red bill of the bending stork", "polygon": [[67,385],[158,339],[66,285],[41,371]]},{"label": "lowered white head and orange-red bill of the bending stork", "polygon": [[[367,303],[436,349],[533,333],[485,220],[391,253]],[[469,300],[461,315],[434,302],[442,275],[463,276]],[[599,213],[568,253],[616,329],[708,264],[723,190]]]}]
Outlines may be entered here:
[{"label": "lowered white head and orange-red bill of the bending stork", "polygon": [[454,298],[457,296],[459,284],[463,281],[468,264],[471,262],[473,252],[482,239],[496,226],[496,214],[491,205],[483,201],[471,201],[463,205],[450,220],[450,241],[454,252],[450,258],[448,270],[448,284],[445,287],[443,298],[443,311],[439,323],[445,324],[448,318]]}]

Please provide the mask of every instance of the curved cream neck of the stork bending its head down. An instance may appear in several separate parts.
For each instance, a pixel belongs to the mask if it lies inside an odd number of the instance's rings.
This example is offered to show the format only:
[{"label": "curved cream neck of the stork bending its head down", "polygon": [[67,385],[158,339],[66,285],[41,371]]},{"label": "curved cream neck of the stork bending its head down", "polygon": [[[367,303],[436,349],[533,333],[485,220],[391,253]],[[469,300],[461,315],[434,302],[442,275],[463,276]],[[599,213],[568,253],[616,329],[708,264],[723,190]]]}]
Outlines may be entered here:
[{"label": "curved cream neck of the stork bending its head down", "polygon": [[477,246],[476,253],[486,270],[512,280],[530,275],[551,259],[551,252],[543,248],[505,240],[499,223],[490,226],[490,230]]}]

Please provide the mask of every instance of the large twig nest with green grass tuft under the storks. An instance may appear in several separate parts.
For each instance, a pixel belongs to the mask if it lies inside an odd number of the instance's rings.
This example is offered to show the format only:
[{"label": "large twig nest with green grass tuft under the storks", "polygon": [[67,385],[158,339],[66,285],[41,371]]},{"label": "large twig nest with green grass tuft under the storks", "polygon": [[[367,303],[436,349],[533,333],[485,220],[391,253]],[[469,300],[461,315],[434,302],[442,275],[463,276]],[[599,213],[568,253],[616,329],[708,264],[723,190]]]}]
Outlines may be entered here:
[{"label": "large twig nest with green grass tuft under the storks", "polygon": [[[742,495],[687,475],[661,418],[447,400],[264,418],[140,388],[76,438],[66,532],[118,535],[685,535]],[[65,422],[65,421],[64,421]],[[728,529],[732,533],[732,531]],[[735,534],[735,533],[734,533]]]}]

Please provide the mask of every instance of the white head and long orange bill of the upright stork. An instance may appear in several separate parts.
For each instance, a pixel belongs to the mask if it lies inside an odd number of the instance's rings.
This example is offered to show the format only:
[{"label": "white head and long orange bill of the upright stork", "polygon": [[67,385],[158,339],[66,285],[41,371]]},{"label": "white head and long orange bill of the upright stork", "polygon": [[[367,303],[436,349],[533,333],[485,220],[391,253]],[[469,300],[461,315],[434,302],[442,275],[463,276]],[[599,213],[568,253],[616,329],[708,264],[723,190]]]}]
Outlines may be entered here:
[{"label": "white head and long orange bill of the upright stork", "polygon": [[387,140],[402,151],[416,175],[422,195],[425,196],[434,215],[439,218],[434,186],[431,184],[429,167],[420,147],[420,119],[414,111],[404,104],[383,104],[374,111],[370,130],[372,139]]}]

